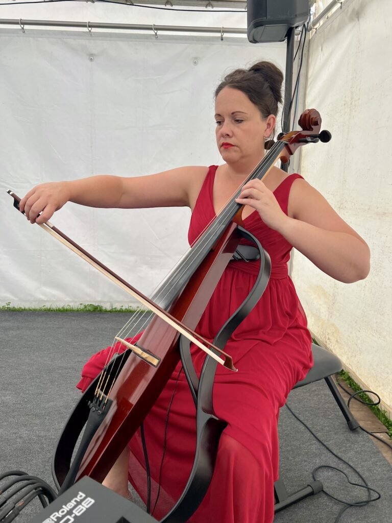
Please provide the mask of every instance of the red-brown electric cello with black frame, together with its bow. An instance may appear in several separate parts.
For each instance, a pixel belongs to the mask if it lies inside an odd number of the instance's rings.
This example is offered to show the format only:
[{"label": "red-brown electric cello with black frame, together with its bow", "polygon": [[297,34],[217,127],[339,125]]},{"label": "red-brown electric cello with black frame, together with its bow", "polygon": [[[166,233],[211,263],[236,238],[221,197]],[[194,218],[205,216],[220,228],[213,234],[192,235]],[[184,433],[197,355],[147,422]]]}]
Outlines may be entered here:
[{"label": "red-brown electric cello with black frame, together with its bow", "polygon": [[[288,162],[299,146],[318,141],[328,142],[331,138],[328,131],[320,132],[321,118],[315,109],[306,110],[298,123],[302,130],[281,133],[278,141],[270,143],[268,153],[244,183],[268,176],[277,160]],[[186,521],[201,503],[211,481],[218,441],[225,427],[225,422],[215,416],[212,404],[216,365],[221,363],[228,368],[228,372],[236,371],[231,357],[223,349],[234,329],[260,299],[271,270],[268,254],[257,238],[242,226],[243,206],[235,201],[240,192],[241,188],[150,299],[53,224],[47,222],[40,225],[154,313],[145,328],[144,323],[140,324],[140,330],[144,329],[136,343],[126,342],[123,339],[125,336],[116,337],[113,357],[89,385],[68,418],[52,461],[53,479],[59,494],[83,476],[103,481],[135,431],[142,428],[143,419],[181,359],[197,411],[197,446],[186,488],[161,521]],[[8,194],[14,198],[14,206],[19,209],[20,198],[11,190],[8,190]],[[241,243],[244,239],[248,244],[246,247]],[[230,260],[248,259],[249,254],[244,248],[249,251],[249,243],[253,245],[250,257],[260,258],[256,281],[246,300],[216,333],[213,343],[210,343],[195,333],[194,329]],[[145,319],[142,321],[145,322]],[[191,342],[207,353],[200,378],[192,366]],[[126,350],[116,355],[115,351],[121,345],[125,345]],[[76,449],[82,433],[82,440]]]}]

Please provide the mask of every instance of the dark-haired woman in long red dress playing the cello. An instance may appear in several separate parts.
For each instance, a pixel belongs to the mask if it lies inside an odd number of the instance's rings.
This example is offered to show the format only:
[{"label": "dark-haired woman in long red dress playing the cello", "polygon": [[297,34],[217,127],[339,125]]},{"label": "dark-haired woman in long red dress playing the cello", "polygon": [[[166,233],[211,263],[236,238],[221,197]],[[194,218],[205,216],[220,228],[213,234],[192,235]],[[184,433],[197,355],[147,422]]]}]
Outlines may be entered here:
[{"label": "dark-haired woman in long red dress playing the cello", "polygon": [[[48,221],[67,201],[106,208],[188,206],[192,210],[188,235],[192,244],[242,186],[236,201],[244,204],[244,227],[270,255],[271,277],[261,299],[225,346],[238,372],[227,372],[221,366],[216,371],[214,411],[227,427],[209,490],[190,520],[194,523],[273,520],[279,409],[295,383],[312,367],[306,316],[287,274],[292,247],[342,282],[365,278],[370,267],[364,240],[302,176],[272,167],[264,181],[255,179],[244,185],[264,156],[264,142],[274,133],[282,80],[275,65],[259,62],[249,70],[228,74],[217,87],[216,143],[224,162],[220,166],[45,183],[30,190],[20,202],[20,210],[31,223]],[[229,263],[198,324],[199,334],[214,338],[246,298],[257,272],[257,261]],[[109,349],[86,363],[77,385],[80,389],[85,390],[100,372]],[[204,355],[197,348],[191,350],[195,370],[200,373]],[[174,505],[187,482],[195,445],[194,412],[179,363],[144,421],[157,519]],[[128,496],[129,480],[146,501],[145,466],[138,431],[104,484]]]}]

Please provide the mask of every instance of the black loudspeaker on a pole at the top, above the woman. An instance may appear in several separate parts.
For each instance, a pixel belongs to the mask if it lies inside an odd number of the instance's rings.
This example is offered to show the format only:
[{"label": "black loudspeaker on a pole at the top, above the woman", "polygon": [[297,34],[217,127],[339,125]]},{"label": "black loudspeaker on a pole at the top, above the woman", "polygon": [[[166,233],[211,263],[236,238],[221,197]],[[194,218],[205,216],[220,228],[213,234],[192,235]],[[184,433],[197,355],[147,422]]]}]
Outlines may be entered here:
[{"label": "black loudspeaker on a pole at the top, above the woman", "polygon": [[248,40],[283,42],[290,27],[304,24],[309,0],[248,0]]}]

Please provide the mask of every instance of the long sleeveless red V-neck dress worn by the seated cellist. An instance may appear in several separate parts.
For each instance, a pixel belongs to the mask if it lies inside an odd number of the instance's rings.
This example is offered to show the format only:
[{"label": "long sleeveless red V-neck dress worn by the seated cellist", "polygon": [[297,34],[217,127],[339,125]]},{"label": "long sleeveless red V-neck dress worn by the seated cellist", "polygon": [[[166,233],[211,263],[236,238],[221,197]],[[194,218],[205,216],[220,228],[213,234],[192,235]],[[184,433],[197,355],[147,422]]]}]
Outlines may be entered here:
[{"label": "long sleeveless red V-neck dress worn by the seated cellist", "polygon": [[[189,243],[192,244],[215,217],[212,188],[217,166],[211,166],[192,213]],[[274,195],[287,213],[291,185],[301,178],[287,176]],[[192,523],[270,523],[274,516],[273,482],[278,479],[279,409],[294,384],[312,367],[311,338],[306,316],[293,282],[287,275],[292,246],[263,223],[257,211],[244,220],[271,257],[271,278],[255,308],[237,327],[225,351],[232,355],[238,372],[217,366],[213,390],[214,410],[227,422],[218,448],[214,475]],[[244,301],[258,272],[258,261],[232,261],[224,271],[198,324],[197,331],[212,340],[230,315]],[[135,338],[133,338],[135,340]],[[100,351],[84,366],[78,388],[85,389],[106,363]],[[192,348],[195,369],[200,373],[204,353]],[[163,457],[164,434],[170,400]],[[151,469],[151,506],[161,519],[185,487],[195,448],[195,407],[181,363],[160,394],[144,422]],[[146,501],[146,472],[140,431],[129,442],[129,479]],[[160,470],[162,467],[162,470]]]}]

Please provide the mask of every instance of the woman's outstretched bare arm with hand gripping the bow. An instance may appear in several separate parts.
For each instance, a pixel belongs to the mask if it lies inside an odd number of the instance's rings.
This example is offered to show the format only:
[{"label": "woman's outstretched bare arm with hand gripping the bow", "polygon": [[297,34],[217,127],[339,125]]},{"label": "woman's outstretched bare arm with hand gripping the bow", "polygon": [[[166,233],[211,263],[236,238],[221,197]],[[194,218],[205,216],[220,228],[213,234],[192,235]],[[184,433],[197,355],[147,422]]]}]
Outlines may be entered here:
[{"label": "woman's outstretched bare arm with hand gripping the bow", "polygon": [[101,175],[54,181],[31,189],[19,207],[31,223],[47,222],[67,201],[105,208],[193,207],[206,172],[207,167],[191,166],[132,178]]}]

